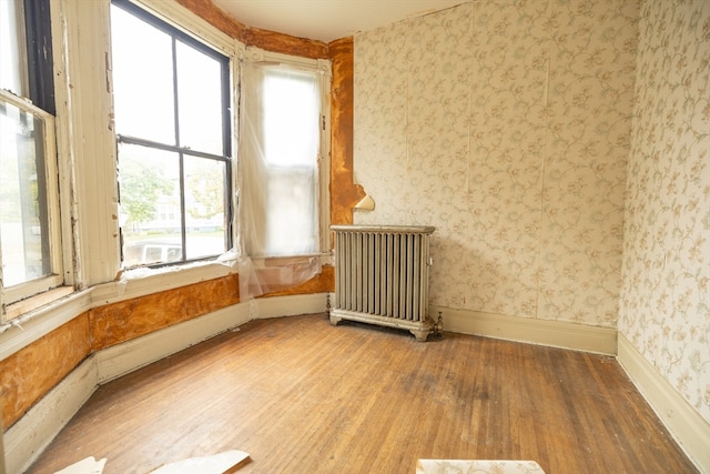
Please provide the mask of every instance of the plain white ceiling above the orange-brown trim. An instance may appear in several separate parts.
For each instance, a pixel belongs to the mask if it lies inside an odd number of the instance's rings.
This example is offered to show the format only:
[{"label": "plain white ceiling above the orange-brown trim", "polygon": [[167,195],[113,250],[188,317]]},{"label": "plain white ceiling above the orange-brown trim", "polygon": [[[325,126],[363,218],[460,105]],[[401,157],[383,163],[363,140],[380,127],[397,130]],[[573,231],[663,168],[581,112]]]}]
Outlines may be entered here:
[{"label": "plain white ceiling above the orange-brown trim", "polygon": [[331,42],[469,0],[213,0],[246,27]]}]

